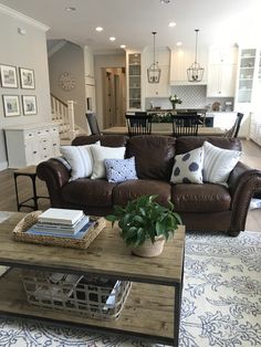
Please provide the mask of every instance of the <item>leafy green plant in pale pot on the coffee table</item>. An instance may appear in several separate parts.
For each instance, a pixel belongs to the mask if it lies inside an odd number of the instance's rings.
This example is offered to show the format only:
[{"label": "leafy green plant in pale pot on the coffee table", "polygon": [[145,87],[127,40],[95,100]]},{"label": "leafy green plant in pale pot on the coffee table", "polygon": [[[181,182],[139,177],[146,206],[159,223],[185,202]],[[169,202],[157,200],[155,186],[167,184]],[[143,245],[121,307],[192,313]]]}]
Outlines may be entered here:
[{"label": "leafy green plant in pale pot on the coffee table", "polygon": [[161,253],[165,241],[174,235],[181,219],[169,207],[158,204],[157,196],[143,196],[130,200],[126,207],[114,207],[114,214],[106,217],[114,223],[117,221],[121,236],[134,254],[139,256],[156,256]]}]

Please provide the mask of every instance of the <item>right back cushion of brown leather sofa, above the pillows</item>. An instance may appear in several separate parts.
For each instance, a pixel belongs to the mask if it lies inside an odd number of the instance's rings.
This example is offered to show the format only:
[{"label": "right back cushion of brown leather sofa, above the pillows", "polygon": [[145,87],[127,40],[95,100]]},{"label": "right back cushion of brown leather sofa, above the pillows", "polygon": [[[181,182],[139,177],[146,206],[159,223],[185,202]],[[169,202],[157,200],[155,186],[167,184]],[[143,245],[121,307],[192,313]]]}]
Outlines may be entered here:
[{"label": "right back cushion of brown leather sofa, above the pillows", "polygon": [[205,141],[223,149],[242,150],[241,141],[238,138],[221,136],[182,136],[176,139],[176,155],[201,147]]}]

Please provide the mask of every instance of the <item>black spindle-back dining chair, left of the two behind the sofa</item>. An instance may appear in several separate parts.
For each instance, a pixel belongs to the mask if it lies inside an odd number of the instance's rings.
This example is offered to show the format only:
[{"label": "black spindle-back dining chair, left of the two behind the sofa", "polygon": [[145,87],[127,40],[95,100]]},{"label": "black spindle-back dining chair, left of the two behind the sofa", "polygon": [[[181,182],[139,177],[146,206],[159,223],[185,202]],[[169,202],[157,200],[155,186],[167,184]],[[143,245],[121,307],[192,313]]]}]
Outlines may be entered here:
[{"label": "black spindle-back dining chair, left of the two behind the sofa", "polygon": [[135,115],[125,115],[128,136],[150,135],[153,115],[147,115],[146,112],[137,112]]}]

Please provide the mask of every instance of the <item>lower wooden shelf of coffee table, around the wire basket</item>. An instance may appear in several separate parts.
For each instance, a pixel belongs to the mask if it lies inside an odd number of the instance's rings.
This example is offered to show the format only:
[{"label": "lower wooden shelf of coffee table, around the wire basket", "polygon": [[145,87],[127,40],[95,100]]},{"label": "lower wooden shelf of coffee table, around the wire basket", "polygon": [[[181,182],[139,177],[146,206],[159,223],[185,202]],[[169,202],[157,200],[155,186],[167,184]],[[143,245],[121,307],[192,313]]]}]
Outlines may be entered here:
[{"label": "lower wooden shelf of coffee table, around the wire basket", "polygon": [[[155,332],[163,343],[173,343],[173,298],[171,287],[134,283],[127,302],[117,320],[102,320],[59,309],[49,309],[28,303],[20,278],[20,270],[13,269],[1,278],[0,313],[59,323],[74,323],[88,327],[100,327],[103,332],[121,330],[124,335],[150,337]],[[149,296],[148,296],[149,293]]]}]

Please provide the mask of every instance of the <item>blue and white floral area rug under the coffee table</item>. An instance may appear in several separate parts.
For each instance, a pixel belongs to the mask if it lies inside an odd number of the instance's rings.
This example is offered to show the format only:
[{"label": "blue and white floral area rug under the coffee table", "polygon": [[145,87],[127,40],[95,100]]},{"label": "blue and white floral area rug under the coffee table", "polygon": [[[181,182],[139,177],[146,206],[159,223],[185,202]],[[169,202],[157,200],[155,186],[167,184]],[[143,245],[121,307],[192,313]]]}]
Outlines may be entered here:
[{"label": "blue and white floral area rug under the coffee table", "polygon": [[[0,346],[146,347],[30,320],[0,319]],[[179,347],[261,346],[261,232],[188,234]]]}]

